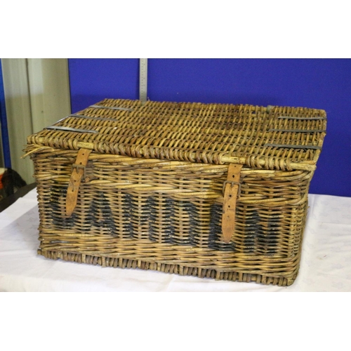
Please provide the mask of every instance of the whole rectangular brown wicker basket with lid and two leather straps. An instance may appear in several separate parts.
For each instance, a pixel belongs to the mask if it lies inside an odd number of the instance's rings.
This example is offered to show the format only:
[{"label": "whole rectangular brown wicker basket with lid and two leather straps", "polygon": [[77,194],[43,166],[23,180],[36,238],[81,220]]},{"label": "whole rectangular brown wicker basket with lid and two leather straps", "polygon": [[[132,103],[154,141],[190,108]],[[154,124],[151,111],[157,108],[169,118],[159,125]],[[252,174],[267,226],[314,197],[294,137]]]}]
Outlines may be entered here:
[{"label": "whole rectangular brown wicker basket with lid and two leather straps", "polygon": [[39,254],[286,286],[323,110],[106,99],[27,139]]}]

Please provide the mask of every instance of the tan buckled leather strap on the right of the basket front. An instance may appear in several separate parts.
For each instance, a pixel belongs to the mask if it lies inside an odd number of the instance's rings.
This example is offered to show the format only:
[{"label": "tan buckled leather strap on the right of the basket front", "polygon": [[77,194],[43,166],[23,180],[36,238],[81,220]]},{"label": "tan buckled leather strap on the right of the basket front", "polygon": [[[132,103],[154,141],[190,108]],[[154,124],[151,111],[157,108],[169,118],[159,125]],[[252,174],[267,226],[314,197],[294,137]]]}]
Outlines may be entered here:
[{"label": "tan buckled leather strap on the right of the basket front", "polygon": [[241,164],[230,164],[228,167],[227,180],[223,185],[223,215],[222,233],[223,240],[230,242],[235,227],[235,208],[237,206],[238,191],[240,188]]}]

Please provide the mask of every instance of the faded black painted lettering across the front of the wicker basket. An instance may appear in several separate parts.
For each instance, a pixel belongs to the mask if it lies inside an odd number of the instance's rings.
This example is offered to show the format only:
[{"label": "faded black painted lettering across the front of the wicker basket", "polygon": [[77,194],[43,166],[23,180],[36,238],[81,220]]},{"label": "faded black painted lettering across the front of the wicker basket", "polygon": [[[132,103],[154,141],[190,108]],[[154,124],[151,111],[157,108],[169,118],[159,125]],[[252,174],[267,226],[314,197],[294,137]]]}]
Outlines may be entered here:
[{"label": "faded black painted lettering across the front of the wicker basket", "polygon": [[[264,210],[244,210],[237,206],[238,224],[232,240],[225,243],[221,227],[222,204],[210,206],[208,229],[203,223],[200,230],[201,216],[197,206],[191,201],[154,196],[140,202],[138,197],[122,192],[118,215],[112,200],[100,191],[96,192],[94,200],[88,201],[87,204],[84,203],[84,194],[80,193],[76,210],[67,218],[62,216],[62,213],[65,213],[66,194],[67,187],[52,187],[51,201],[48,204],[50,210],[46,213],[50,213],[52,224],[58,229],[266,255],[277,252],[277,236],[282,230],[282,216],[278,212],[267,216]],[[204,231],[208,231],[208,239]]]}]

